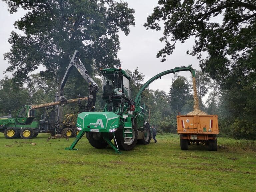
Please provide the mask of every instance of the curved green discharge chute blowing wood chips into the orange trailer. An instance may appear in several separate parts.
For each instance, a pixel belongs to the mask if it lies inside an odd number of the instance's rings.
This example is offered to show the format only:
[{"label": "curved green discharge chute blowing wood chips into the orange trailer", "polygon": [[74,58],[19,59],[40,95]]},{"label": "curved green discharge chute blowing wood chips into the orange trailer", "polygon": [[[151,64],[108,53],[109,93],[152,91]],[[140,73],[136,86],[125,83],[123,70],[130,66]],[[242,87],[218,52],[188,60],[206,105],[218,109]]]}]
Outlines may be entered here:
[{"label": "curved green discharge chute blowing wood chips into the orange trailer", "polygon": [[156,79],[158,79],[159,77],[162,77],[164,75],[167,75],[169,73],[176,73],[176,72],[179,72],[179,71],[190,71],[191,74],[192,74],[192,77],[195,77],[196,76],[196,72],[195,70],[192,68],[192,65],[189,65],[189,66],[183,66],[183,67],[175,67],[174,69],[170,69],[170,70],[167,70],[167,71],[164,71],[162,73],[159,73],[157,75],[155,75],[154,77],[152,77],[151,79],[149,79],[139,90],[138,94],[136,95],[135,97],[135,107],[137,109],[137,111],[139,110],[139,107],[140,107],[140,101],[141,101],[141,96],[142,96],[142,93],[143,91],[149,86],[150,83],[152,83],[153,81],[155,81]]}]

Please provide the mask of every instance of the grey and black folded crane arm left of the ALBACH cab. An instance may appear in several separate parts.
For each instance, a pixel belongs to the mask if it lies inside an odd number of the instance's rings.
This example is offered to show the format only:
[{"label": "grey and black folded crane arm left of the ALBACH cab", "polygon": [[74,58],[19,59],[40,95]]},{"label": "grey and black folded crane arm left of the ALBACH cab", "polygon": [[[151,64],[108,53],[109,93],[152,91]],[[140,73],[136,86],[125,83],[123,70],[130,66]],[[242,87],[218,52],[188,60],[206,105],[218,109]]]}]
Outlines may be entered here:
[{"label": "grey and black folded crane arm left of the ALBACH cab", "polygon": [[97,83],[88,74],[88,71],[84,67],[84,64],[82,63],[81,59],[78,57],[79,55],[80,55],[79,51],[75,50],[70,60],[70,63],[68,65],[68,68],[66,70],[66,73],[60,83],[60,100],[64,101],[63,103],[65,103],[66,98],[63,96],[63,88],[67,82],[71,69],[75,67],[78,70],[78,72],[82,75],[84,80],[89,83],[89,98],[88,98],[88,103],[85,108],[85,111],[94,111],[95,102],[96,102],[96,93],[99,90],[99,87]]}]

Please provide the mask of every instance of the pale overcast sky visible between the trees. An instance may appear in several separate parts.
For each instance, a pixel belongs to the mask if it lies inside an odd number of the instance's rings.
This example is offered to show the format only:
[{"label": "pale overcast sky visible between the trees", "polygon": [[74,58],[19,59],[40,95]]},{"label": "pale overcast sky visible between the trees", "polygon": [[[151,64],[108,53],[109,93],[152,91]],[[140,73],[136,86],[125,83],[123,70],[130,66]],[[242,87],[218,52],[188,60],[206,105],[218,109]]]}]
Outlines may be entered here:
[{"label": "pale overcast sky visible between the trees", "polygon": [[[145,75],[145,82],[160,72],[179,66],[192,64],[194,69],[200,70],[196,57],[186,54],[187,50],[192,50],[194,39],[189,39],[184,44],[177,43],[175,51],[171,56],[167,57],[167,61],[160,62],[160,58],[156,58],[158,51],[164,47],[164,43],[159,41],[163,31],[146,30],[143,25],[146,22],[147,16],[158,5],[157,0],[127,0],[127,2],[128,6],[135,10],[136,26],[130,27],[130,34],[128,36],[125,36],[123,32],[119,33],[121,50],[118,52],[118,57],[121,60],[122,69],[134,71],[138,67],[139,72]],[[0,1],[0,78],[4,77],[3,71],[8,66],[7,61],[3,60],[3,54],[8,52],[11,47],[7,40],[10,37],[11,31],[15,30],[13,24],[25,13],[24,10],[20,9],[17,13],[10,14],[7,11],[7,5]],[[179,74],[191,77],[190,72],[180,72]],[[173,74],[165,75],[162,79],[151,83],[149,87],[153,90],[159,89],[169,93],[172,77]]]}]

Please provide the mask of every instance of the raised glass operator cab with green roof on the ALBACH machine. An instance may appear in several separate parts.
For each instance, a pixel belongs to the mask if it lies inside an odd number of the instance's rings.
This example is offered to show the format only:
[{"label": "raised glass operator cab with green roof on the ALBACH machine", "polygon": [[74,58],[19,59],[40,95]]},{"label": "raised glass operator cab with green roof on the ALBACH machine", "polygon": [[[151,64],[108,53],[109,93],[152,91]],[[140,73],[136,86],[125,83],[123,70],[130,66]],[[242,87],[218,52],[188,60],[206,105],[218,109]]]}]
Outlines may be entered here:
[{"label": "raised glass operator cab with green roof on the ALBACH machine", "polygon": [[104,69],[101,70],[103,75],[102,97],[122,97],[130,99],[130,75],[122,69]]}]

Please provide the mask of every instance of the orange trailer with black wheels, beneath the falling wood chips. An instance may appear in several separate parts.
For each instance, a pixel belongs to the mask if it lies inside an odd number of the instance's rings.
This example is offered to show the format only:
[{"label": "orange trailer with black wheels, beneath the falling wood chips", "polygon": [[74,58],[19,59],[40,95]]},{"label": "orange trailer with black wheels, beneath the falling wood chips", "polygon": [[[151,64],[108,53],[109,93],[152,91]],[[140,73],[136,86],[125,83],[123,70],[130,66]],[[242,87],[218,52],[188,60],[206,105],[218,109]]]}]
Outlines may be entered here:
[{"label": "orange trailer with black wheels, beneath the falling wood chips", "polygon": [[189,143],[205,143],[217,151],[218,115],[177,115],[177,132],[182,150],[188,150]]}]

